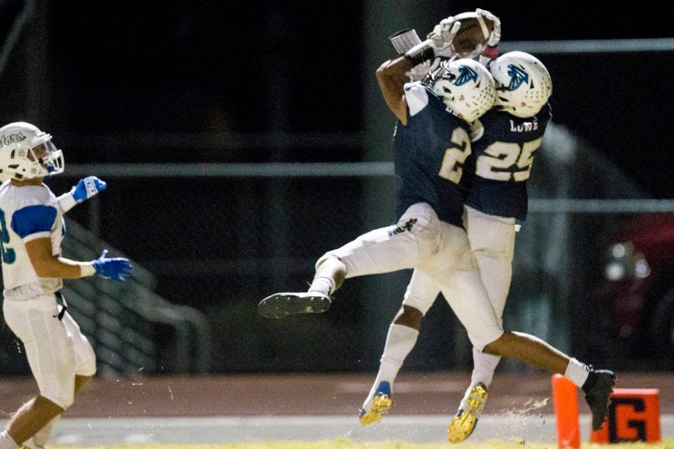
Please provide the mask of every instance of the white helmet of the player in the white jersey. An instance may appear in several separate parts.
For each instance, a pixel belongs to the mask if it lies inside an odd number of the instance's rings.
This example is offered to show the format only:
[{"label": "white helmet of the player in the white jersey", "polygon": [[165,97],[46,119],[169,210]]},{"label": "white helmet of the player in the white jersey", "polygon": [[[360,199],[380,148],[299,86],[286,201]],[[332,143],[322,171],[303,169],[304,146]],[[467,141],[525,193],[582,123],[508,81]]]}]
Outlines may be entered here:
[{"label": "white helmet of the player in the white jersey", "polygon": [[31,179],[63,173],[63,152],[52,135],[26,122],[0,128],[0,179]]}]

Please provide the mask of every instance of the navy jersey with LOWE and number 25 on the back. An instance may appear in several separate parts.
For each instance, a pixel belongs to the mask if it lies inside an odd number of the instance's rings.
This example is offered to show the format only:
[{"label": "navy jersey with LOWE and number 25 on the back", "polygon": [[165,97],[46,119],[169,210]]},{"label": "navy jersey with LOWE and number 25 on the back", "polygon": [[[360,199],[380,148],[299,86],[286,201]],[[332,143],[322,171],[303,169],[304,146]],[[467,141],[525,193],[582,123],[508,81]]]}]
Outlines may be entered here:
[{"label": "navy jersey with LOWE and number 25 on the back", "polygon": [[491,109],[473,123],[472,155],[462,182],[472,184],[467,206],[499,217],[527,217],[526,182],[550,118],[547,104],[528,118]]}]

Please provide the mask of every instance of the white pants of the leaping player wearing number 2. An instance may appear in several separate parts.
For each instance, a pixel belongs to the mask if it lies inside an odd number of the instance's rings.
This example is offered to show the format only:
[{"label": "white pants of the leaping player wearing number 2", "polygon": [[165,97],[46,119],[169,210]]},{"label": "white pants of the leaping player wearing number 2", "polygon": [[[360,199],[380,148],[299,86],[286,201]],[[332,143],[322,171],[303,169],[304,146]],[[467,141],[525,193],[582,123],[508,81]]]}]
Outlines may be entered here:
[{"label": "white pants of the leaping player wearing number 2", "polygon": [[472,261],[466,232],[438,219],[426,203],[410,206],[396,225],[367,232],[327,252],[316,267],[330,257],[344,263],[347,278],[415,268],[415,274],[433,282],[435,296],[442,291],[448,298],[474,347],[481,350],[503,334]]}]

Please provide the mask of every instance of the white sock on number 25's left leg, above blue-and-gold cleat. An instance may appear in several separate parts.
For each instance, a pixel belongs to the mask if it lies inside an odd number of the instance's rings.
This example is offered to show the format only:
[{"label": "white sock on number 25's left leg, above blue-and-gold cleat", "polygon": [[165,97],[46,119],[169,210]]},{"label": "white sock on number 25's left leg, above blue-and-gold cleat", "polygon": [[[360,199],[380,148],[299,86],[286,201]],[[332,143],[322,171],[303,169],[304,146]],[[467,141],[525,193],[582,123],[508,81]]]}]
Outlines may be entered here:
[{"label": "white sock on number 25's left leg, above blue-and-gold cleat", "polygon": [[367,395],[365,402],[362,404],[365,410],[369,410],[372,403],[372,397],[377,390],[377,387],[382,382],[389,382],[391,390],[393,389],[393,381],[398,376],[398,371],[402,367],[407,355],[412,351],[412,348],[417,342],[419,331],[411,327],[403,325],[392,324],[389,326],[389,333],[386,338],[386,346],[379,364],[379,372],[377,378]]}]

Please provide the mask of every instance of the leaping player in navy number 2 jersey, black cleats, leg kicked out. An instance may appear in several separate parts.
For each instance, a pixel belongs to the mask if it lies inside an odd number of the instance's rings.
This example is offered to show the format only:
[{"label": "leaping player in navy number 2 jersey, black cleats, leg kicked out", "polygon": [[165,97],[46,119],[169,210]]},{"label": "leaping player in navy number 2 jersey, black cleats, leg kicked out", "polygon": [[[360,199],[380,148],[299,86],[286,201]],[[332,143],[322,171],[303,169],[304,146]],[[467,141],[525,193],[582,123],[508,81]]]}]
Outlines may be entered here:
[{"label": "leaping player in navy number 2 jersey, black cleats, leg kicked out", "polygon": [[[404,85],[404,74],[412,67],[450,56],[458,25],[445,19],[426,41],[377,70],[382,96],[399,120],[394,138],[398,223],[327,252],[316,263],[308,292],[268,296],[259,311],[272,318],[323,312],[345,278],[414,267],[439,287],[477,350],[564,373],[587,388],[598,428],[607,414],[613,373],[591,370],[534,336],[504,332],[461,227],[465,191],[460,181],[472,152],[468,124],[492,107],[492,76],[477,61],[459,59],[442,63],[432,89],[422,83]],[[399,314],[395,323],[411,328],[408,319]],[[390,407],[390,397],[389,382],[380,382],[361,410],[362,421],[376,421]]]}]

